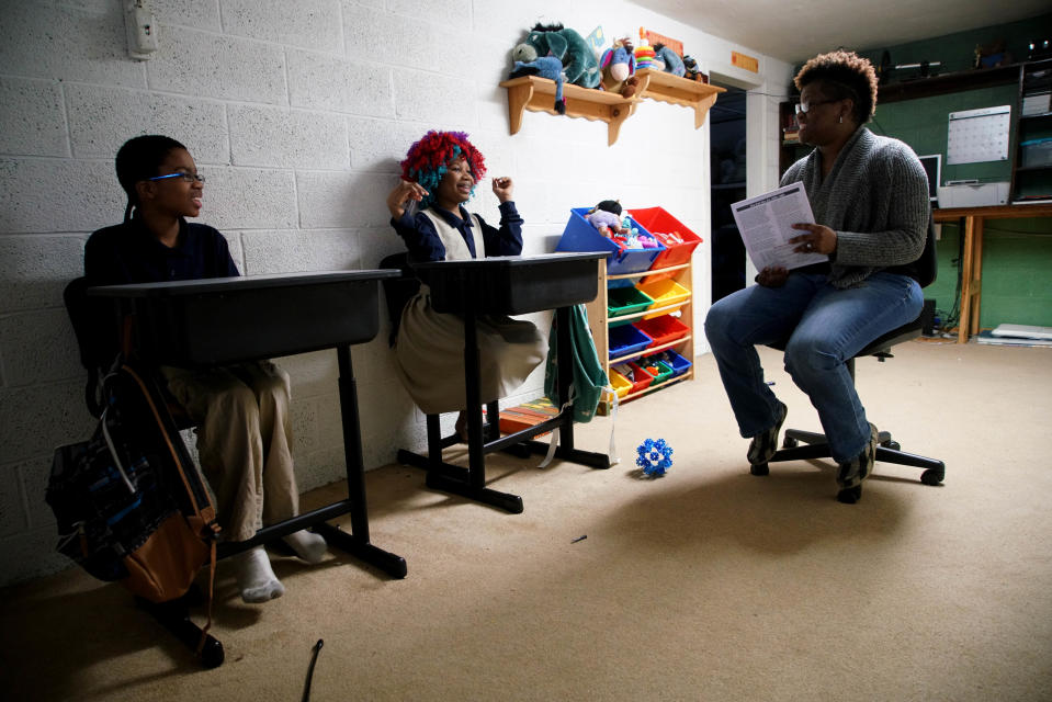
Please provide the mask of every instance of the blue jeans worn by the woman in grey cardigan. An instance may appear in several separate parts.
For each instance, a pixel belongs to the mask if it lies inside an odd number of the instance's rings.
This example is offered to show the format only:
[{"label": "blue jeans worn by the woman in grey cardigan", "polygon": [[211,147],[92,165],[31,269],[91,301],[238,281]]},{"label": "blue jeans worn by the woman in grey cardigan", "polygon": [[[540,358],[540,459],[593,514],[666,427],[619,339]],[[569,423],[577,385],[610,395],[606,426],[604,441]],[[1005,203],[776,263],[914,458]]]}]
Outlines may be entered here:
[{"label": "blue jeans worn by the woman in grey cardigan", "polygon": [[923,305],[916,281],[887,272],[845,290],[824,274],[790,273],[781,287],[753,285],[717,301],[705,335],[742,435],[777,422],[778,400],[763,382],[756,347],[784,342],[785,370],[818,410],[834,461],[858,456],[870,429],[846,362],[916,319]]}]

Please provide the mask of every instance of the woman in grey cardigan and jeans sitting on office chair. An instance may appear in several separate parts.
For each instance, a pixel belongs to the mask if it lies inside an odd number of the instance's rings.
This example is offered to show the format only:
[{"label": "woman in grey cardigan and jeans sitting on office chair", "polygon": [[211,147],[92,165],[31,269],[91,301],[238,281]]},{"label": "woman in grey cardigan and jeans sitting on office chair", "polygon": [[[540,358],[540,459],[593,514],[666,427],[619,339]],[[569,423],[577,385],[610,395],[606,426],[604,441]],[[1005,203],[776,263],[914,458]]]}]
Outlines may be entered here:
[{"label": "woman in grey cardigan and jeans sitting on office chair", "polygon": [[867,421],[846,363],[870,341],[917,318],[914,264],[924,251],[928,183],[908,146],[866,128],[876,106],[876,75],[853,53],[807,61],[795,78],[801,141],[816,147],[785,171],[802,182],[817,224],[794,224],[798,252],[828,261],[793,271],[769,268],[754,285],[716,302],[705,333],[748,461],[778,450],[787,407],[763,382],[757,344],[785,344],[785,370],[818,410],[839,465],[837,498],[853,503],[873,468],[876,428]]}]

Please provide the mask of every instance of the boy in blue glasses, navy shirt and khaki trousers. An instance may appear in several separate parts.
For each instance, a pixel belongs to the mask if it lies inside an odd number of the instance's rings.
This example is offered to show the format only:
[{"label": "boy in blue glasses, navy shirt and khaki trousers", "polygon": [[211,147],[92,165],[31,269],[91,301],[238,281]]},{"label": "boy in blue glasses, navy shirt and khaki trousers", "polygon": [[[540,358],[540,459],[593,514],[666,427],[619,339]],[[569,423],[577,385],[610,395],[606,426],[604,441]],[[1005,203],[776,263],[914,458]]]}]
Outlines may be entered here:
[{"label": "boy in blue glasses, navy shirt and khaki trousers", "polygon": [[[128,204],[122,224],[88,239],[84,275],[91,285],[239,274],[223,235],[185,219],[201,213],[204,177],[182,144],[158,135],[129,139],[117,151],[116,171]],[[215,494],[224,537],[247,541],[262,525],[298,514],[289,374],[270,361],[160,370],[197,426],[197,453]],[[318,534],[299,531],[284,540],[308,563],[325,555],[325,540]],[[262,546],[234,559],[246,602],[284,593]]]}]

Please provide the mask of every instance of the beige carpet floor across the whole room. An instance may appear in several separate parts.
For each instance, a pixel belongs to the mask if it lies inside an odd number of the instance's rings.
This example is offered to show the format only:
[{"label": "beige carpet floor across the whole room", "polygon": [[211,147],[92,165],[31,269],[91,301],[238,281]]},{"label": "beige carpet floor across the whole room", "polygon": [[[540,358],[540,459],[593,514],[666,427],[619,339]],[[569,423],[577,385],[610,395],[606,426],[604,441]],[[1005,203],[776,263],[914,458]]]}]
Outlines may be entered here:
[{"label": "beige carpet floor across the whole room", "polygon": [[[787,426],[817,429],[763,358]],[[372,541],[408,577],[275,556],[286,595],[246,605],[224,569],[214,670],[120,586],[72,569],[7,588],[0,697],[298,700],[321,638],[316,701],[1052,699],[1052,349],[913,342],[860,361],[871,420],[947,478],[878,464],[856,506],[828,462],[750,476],[712,358],[697,371],[621,408],[609,471],[491,456],[522,514],[370,472]],[[609,427],[578,445],[603,451]],[[675,449],[659,479],[633,465],[648,437]]]}]

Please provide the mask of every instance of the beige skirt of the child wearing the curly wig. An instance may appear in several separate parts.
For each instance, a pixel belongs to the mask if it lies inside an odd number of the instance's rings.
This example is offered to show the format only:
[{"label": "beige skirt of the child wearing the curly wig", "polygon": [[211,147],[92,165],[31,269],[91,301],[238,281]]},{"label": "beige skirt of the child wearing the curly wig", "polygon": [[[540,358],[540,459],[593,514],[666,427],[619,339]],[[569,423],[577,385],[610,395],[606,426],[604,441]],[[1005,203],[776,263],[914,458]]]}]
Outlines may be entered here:
[{"label": "beige skirt of the child wearing the curly wig", "polygon": [[[541,364],[547,344],[529,321],[482,316],[478,329],[482,401],[507,397]],[[395,366],[409,396],[426,415],[467,407],[464,385],[464,320],[431,308],[423,287],[401,313]]]}]

